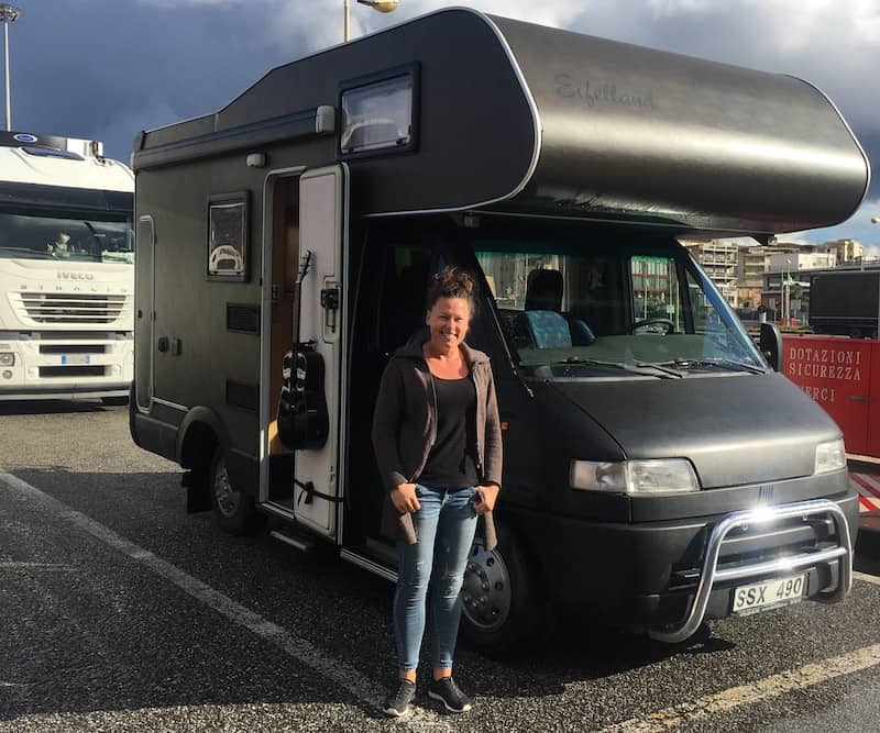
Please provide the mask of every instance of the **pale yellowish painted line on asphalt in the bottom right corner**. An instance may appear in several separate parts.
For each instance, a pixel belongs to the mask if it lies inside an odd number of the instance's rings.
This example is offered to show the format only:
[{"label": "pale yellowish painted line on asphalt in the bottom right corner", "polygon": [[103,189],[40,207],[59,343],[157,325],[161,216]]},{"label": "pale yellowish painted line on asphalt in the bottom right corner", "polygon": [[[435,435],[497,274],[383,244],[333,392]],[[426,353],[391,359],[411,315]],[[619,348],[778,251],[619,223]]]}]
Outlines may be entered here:
[{"label": "pale yellowish painted line on asphalt in the bottom right corner", "polygon": [[848,654],[823,659],[815,664],[804,665],[798,669],[780,673],[759,679],[750,685],[732,687],[722,692],[706,695],[692,702],[682,702],[672,708],[664,708],[641,718],[631,718],[610,728],[603,733],[648,733],[669,731],[684,723],[703,720],[710,715],[726,712],[740,706],[754,704],[777,698],[787,692],[802,690],[822,682],[827,682],[843,675],[851,675],[880,664],[880,644],[866,646]]}]

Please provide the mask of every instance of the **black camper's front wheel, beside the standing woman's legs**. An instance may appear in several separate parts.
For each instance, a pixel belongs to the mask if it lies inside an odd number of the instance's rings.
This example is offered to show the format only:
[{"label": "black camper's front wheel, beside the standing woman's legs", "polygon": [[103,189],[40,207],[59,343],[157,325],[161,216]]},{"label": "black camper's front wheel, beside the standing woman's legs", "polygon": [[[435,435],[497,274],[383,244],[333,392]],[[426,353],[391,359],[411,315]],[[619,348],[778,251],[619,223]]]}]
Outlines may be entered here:
[{"label": "black camper's front wheel, beside the standing woman's legs", "polygon": [[462,633],[490,654],[522,653],[540,642],[550,619],[537,573],[513,532],[497,522],[498,546],[474,537],[462,585]]}]

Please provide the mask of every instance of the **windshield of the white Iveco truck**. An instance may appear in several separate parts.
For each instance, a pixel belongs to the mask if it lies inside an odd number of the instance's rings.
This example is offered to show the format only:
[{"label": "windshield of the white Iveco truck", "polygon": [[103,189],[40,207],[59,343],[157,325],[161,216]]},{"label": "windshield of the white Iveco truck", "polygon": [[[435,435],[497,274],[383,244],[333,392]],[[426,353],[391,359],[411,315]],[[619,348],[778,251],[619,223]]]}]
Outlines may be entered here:
[{"label": "windshield of the white Iveco truck", "polygon": [[0,213],[0,258],[134,263],[131,219]]}]

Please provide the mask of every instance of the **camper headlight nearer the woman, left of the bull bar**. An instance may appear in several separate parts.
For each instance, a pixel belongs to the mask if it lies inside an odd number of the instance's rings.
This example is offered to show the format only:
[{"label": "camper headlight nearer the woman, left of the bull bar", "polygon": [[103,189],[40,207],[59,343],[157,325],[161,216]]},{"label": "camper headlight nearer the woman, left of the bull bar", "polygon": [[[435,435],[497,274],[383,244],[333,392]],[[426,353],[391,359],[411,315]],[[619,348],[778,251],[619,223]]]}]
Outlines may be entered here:
[{"label": "camper headlight nearer the woman, left of the bull bar", "polygon": [[612,493],[678,493],[698,491],[700,481],[684,458],[602,463],[572,460],[569,481],[573,489]]}]

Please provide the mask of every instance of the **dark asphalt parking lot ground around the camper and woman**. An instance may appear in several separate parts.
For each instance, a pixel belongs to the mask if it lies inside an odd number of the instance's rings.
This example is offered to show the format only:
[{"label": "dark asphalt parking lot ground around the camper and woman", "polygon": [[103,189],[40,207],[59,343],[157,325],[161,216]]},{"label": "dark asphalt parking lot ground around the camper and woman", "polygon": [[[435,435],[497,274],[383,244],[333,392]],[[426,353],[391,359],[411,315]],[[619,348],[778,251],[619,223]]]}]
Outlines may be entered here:
[{"label": "dark asphalt parking lot ground around the camper and woman", "polygon": [[576,620],[518,659],[464,646],[473,711],[388,721],[392,586],[223,534],[179,477],[124,408],[0,403],[0,732],[880,730],[880,542],[840,604],[676,646]]}]

